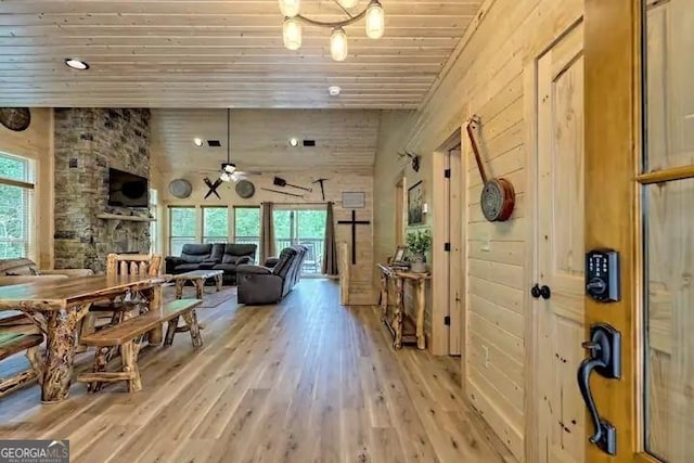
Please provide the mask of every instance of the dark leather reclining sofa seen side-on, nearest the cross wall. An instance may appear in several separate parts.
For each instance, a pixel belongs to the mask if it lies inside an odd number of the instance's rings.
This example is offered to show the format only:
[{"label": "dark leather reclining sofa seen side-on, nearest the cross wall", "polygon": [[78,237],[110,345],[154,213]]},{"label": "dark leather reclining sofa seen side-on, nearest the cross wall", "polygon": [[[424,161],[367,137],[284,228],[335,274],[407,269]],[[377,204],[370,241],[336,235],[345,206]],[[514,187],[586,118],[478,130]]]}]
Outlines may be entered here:
[{"label": "dark leather reclining sofa seen side-on, nearest the cross wall", "polygon": [[301,245],[285,247],[278,258],[268,259],[264,266],[239,266],[239,303],[260,305],[282,300],[298,283],[307,252]]}]

